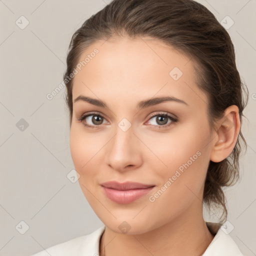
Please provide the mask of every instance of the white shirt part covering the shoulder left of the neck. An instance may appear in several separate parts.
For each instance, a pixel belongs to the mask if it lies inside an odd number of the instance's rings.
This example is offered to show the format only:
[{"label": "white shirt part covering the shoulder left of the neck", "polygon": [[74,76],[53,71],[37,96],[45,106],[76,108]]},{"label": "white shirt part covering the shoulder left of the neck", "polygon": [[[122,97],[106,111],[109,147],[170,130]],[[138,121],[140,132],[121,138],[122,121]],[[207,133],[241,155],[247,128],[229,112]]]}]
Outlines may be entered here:
[{"label": "white shirt part covering the shoulder left of the neck", "polygon": [[31,256],[87,255],[85,253],[88,252],[93,256],[94,253],[98,253],[99,239],[104,229],[105,226],[101,226],[90,234],[78,236],[68,241],[55,244],[32,254]]}]

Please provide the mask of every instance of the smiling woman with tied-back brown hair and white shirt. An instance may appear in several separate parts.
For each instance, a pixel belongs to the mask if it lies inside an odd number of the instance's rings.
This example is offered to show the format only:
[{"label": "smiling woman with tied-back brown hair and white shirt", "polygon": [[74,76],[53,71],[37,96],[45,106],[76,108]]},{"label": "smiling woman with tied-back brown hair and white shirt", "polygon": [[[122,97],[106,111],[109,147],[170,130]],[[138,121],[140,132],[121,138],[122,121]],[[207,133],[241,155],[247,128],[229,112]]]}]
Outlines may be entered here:
[{"label": "smiling woman with tied-back brown hair and white shirt", "polygon": [[64,82],[71,156],[104,226],[34,255],[242,255],[222,187],[239,177],[247,98],[207,8],[113,0],[73,34]]}]

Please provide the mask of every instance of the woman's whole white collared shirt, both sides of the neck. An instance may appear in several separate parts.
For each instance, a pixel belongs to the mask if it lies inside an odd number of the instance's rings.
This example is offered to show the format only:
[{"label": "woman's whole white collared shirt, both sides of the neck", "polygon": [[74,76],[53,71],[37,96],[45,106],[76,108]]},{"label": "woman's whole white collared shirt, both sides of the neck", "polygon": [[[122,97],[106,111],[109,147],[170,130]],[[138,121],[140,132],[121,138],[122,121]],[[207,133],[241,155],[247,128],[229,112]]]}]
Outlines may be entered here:
[{"label": "woman's whole white collared shirt, both sides of the neck", "polygon": [[[206,221],[206,225],[215,236],[202,256],[244,256],[231,236],[222,231],[220,224]],[[90,234],[58,243],[31,256],[98,256],[99,240],[104,230],[105,226],[101,226]]]}]

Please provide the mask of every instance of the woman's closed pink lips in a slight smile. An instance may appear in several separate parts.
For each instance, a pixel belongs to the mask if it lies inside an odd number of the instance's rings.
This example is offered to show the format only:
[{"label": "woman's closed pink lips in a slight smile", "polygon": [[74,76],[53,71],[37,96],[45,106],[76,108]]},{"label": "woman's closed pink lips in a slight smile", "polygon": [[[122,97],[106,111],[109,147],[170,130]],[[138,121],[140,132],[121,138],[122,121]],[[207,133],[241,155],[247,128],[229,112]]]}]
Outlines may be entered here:
[{"label": "woman's closed pink lips in a slight smile", "polygon": [[125,204],[135,201],[139,197],[147,194],[154,185],[141,184],[137,182],[109,181],[101,184],[105,195],[112,201]]}]

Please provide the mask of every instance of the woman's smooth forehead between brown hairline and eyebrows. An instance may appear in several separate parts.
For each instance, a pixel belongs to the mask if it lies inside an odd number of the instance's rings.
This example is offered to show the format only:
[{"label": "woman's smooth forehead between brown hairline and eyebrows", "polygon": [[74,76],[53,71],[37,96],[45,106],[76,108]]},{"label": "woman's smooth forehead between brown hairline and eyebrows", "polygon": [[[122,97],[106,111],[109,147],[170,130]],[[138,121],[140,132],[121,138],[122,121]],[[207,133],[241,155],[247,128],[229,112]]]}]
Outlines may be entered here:
[{"label": "woman's smooth forehead between brown hairline and eyebrows", "polygon": [[194,62],[157,39],[99,40],[82,52],[79,62],[83,65],[73,79],[73,99],[86,94],[131,102],[168,94],[190,103],[198,98],[207,102],[196,85]]}]

